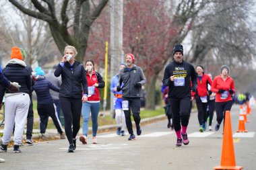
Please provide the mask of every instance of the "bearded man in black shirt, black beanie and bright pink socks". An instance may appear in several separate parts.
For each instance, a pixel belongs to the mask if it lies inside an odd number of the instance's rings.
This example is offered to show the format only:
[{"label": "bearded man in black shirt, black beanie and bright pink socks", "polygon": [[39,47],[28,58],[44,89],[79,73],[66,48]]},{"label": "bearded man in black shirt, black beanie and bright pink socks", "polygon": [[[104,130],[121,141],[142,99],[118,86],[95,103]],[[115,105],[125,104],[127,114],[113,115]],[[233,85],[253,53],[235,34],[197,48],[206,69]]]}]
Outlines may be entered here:
[{"label": "bearded man in black shirt, black beanie and bright pink socks", "polygon": [[[173,48],[173,62],[164,70],[162,83],[168,85],[174,130],[177,134],[177,146],[189,144],[187,125],[191,111],[191,89],[197,89],[197,76],[193,65],[183,60],[183,46]],[[192,85],[192,87],[191,87]]]}]

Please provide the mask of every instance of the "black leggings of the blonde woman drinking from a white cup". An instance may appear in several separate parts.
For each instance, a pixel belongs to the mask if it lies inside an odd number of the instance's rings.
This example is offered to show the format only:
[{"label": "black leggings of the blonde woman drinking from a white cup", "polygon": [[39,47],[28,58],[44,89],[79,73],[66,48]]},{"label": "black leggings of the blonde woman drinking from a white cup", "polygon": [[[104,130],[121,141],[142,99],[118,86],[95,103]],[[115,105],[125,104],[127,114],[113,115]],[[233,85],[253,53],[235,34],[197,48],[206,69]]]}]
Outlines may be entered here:
[{"label": "black leggings of the blonde woman drinking from a white cup", "polygon": [[69,144],[73,144],[73,138],[76,137],[80,128],[82,100],[77,98],[59,97],[59,101],[65,119],[67,140],[69,140]]}]

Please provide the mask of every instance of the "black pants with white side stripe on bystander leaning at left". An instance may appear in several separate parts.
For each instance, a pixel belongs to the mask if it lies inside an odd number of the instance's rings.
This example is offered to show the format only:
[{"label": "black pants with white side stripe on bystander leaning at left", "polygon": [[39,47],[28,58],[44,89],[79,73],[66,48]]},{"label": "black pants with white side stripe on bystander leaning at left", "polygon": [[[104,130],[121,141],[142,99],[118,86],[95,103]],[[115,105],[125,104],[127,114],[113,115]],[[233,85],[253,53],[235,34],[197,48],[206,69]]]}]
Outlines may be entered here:
[{"label": "black pants with white side stripe on bystander leaning at left", "polygon": [[60,134],[63,133],[61,128],[61,121],[55,114],[55,108],[53,104],[38,104],[37,105],[38,115],[40,116],[40,133],[44,134],[47,128],[49,116],[52,118],[55,127]]}]

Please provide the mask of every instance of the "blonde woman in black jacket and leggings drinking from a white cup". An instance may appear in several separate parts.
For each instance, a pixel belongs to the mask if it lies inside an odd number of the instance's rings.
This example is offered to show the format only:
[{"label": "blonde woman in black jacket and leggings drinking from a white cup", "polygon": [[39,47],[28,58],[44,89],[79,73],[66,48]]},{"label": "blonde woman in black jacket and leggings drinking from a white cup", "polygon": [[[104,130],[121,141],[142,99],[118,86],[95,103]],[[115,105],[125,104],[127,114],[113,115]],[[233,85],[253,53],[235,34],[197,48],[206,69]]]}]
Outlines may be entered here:
[{"label": "blonde woman in black jacket and leggings drinking from a white cup", "polygon": [[[84,66],[75,60],[77,51],[73,46],[66,46],[64,56],[55,70],[55,76],[61,75],[59,101],[65,119],[65,132],[69,140],[69,153],[76,147],[77,132],[80,128],[82,101],[87,101],[88,87]],[[84,95],[82,95],[84,89]],[[72,130],[73,125],[73,130]]]}]

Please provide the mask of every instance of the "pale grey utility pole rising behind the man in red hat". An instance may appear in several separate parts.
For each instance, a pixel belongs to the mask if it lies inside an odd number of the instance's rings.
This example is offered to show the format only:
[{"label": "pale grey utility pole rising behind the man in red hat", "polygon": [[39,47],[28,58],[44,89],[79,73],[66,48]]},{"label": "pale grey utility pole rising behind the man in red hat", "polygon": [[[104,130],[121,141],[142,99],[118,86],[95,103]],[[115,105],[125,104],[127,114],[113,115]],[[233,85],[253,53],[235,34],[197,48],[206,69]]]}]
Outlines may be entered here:
[{"label": "pale grey utility pole rising behind the man in red hat", "polygon": [[[119,72],[123,58],[123,0],[110,0],[110,79]],[[110,113],[114,108],[113,97],[111,93]]]}]

